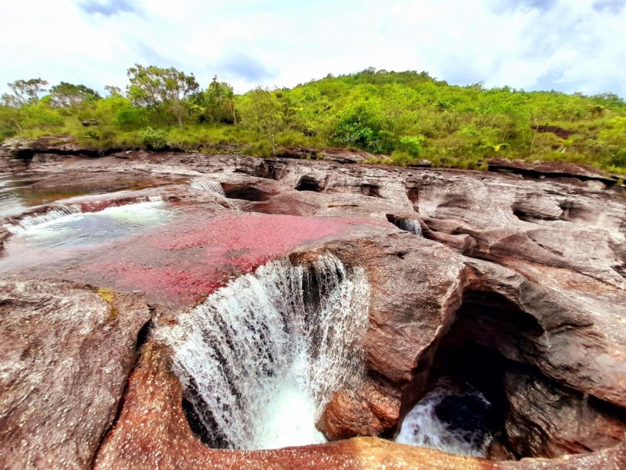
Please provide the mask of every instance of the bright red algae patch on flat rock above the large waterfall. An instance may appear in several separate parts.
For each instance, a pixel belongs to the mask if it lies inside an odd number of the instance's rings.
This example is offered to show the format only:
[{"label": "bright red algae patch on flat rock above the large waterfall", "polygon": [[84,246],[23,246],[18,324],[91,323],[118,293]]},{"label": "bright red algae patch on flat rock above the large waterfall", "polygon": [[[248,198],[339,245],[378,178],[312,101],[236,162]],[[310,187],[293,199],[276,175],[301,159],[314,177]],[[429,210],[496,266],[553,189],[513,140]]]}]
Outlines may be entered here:
[{"label": "bright red algae patch on flat rock above the large waterfall", "polygon": [[[143,290],[173,303],[196,302],[296,246],[346,231],[361,219],[232,212],[170,224],[135,242],[138,252],[118,250],[116,262],[84,266],[113,286]],[[385,222],[387,223],[387,222]]]}]

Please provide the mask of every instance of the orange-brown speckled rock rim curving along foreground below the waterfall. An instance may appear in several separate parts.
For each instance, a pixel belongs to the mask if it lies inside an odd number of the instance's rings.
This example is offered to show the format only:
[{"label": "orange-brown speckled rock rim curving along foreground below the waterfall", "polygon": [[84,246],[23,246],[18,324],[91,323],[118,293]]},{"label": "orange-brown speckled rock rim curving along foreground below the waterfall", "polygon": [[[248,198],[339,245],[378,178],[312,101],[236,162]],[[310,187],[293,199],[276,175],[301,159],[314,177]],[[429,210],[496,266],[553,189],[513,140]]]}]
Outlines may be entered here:
[{"label": "orange-brown speckled rock rim curving along foreground below the waterfall", "polygon": [[488,462],[373,437],[273,451],[210,449],[189,429],[180,407],[180,384],[168,357],[167,351],[153,343],[142,348],[140,367],[131,375],[120,418],[95,458],[96,470],[621,470],[626,463],[626,446],[554,460]]}]

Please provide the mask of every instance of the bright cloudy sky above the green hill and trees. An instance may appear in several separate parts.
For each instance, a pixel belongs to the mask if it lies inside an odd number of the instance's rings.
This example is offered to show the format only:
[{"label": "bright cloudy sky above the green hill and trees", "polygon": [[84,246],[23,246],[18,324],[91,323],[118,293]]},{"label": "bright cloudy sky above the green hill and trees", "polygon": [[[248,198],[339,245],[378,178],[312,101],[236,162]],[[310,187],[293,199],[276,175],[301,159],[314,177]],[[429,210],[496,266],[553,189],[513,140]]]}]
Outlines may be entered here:
[{"label": "bright cloudy sky above the green hill and trees", "polygon": [[0,93],[38,77],[124,87],[140,63],[238,92],[374,66],[626,97],[626,0],[21,0],[0,19]]}]

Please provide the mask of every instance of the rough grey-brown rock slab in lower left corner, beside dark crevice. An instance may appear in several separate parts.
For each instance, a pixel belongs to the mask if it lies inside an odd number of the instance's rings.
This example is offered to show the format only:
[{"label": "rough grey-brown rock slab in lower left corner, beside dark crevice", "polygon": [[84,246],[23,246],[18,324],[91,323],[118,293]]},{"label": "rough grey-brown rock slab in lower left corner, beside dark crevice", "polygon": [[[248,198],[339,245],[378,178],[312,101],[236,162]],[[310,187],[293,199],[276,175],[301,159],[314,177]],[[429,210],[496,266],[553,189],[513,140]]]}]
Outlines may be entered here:
[{"label": "rough grey-brown rock slab in lower left corner, beside dark crevice", "polygon": [[0,467],[90,468],[150,313],[63,281],[0,281]]}]

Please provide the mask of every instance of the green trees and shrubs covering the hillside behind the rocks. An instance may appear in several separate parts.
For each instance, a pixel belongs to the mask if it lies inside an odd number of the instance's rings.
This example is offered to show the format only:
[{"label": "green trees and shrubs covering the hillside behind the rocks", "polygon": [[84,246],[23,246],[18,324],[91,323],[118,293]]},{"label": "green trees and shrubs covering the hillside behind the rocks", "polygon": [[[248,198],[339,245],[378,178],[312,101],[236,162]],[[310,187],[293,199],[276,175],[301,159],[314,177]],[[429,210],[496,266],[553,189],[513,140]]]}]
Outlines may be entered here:
[{"label": "green trees and shrubs covering the hillside behind the rocks", "polygon": [[452,86],[425,72],[373,68],[244,95],[217,77],[202,90],[174,68],[136,65],[128,77],[125,91],[108,86],[106,98],[84,85],[10,83],[0,139],[71,134],[93,147],[229,145],[260,156],[284,146],[346,147],[398,165],[425,158],[480,168],[504,157],[626,172],[626,102],[610,93]]}]

